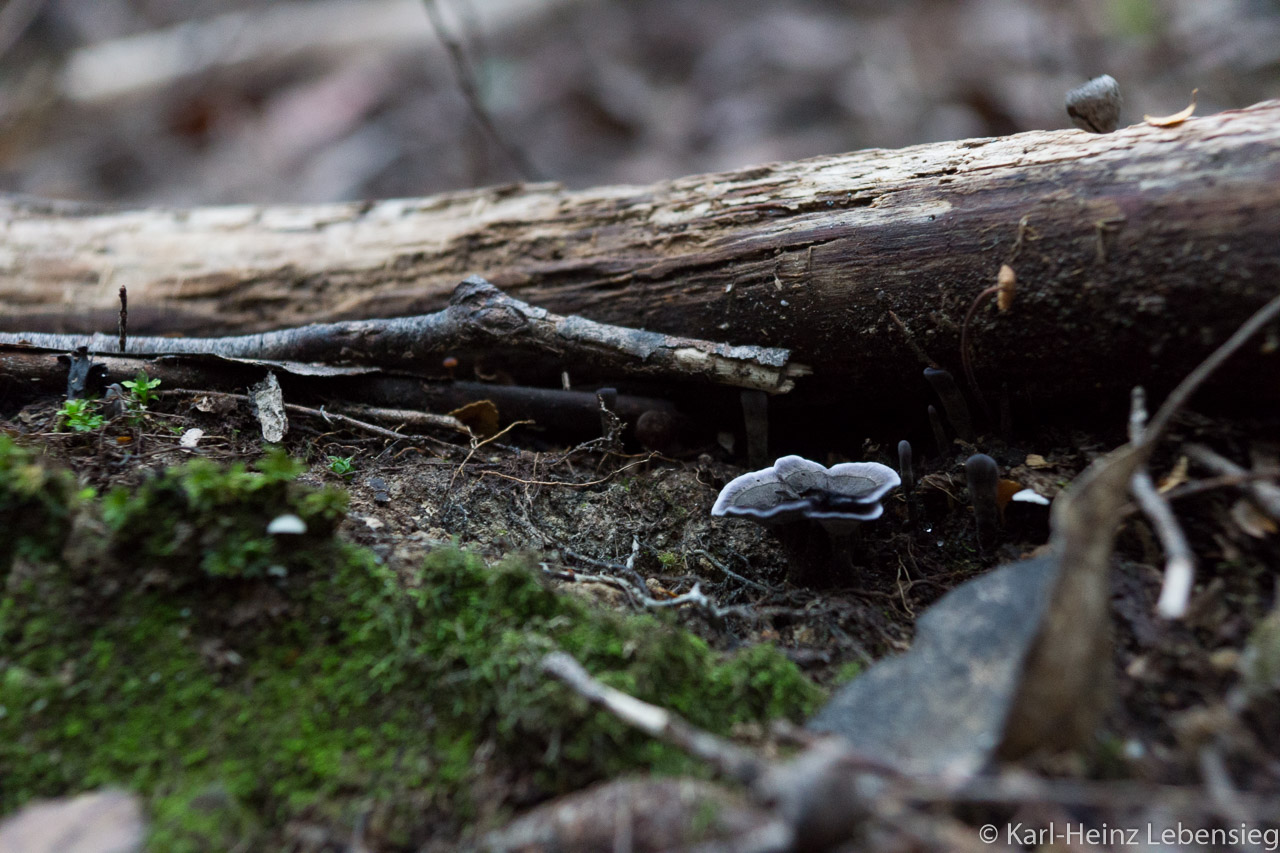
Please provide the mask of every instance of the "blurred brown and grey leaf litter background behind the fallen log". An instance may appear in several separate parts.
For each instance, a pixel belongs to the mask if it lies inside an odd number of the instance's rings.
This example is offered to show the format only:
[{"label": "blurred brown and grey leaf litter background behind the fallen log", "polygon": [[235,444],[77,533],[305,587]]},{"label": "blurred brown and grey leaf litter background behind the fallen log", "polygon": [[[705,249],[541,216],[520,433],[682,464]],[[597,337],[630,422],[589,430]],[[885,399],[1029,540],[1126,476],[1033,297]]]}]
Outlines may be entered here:
[{"label": "blurred brown and grey leaf litter background behind the fallen log", "polygon": [[319,202],[1247,106],[1280,0],[8,0],[0,49],[0,191]]}]

